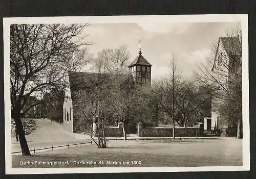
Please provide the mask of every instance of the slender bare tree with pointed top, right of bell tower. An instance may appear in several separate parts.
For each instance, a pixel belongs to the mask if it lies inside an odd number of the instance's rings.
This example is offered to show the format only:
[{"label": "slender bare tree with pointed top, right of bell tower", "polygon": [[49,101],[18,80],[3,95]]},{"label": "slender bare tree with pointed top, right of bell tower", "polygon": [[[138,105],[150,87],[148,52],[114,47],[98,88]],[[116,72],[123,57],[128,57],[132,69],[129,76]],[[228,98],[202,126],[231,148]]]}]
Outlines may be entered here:
[{"label": "slender bare tree with pointed top, right of bell tower", "polygon": [[157,99],[158,110],[172,119],[167,122],[173,123],[175,138],[175,122],[179,126],[186,127],[199,107],[208,102],[210,95],[202,95],[193,81],[185,79],[177,69],[174,59],[170,68],[172,72],[170,76],[155,82],[152,90]]}]

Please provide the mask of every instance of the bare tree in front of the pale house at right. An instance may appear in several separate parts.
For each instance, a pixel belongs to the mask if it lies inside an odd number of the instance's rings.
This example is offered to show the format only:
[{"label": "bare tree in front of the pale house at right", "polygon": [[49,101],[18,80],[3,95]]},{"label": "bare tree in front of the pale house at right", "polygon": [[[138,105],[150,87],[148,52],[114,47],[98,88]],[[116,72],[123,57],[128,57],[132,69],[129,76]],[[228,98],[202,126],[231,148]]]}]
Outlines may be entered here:
[{"label": "bare tree in front of the pale house at right", "polygon": [[238,127],[242,136],[242,43],[238,24],[212,45],[212,56],[199,66],[198,81],[211,89],[212,110]]}]

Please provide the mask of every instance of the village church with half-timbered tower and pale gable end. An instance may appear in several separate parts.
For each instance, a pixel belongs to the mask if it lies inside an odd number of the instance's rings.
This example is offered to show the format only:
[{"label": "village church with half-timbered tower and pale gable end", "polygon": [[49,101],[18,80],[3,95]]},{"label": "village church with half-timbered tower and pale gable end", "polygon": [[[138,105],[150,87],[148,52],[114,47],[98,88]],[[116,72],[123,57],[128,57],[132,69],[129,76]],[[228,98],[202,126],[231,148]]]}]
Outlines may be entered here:
[{"label": "village church with half-timbered tower and pale gable end", "polygon": [[[151,67],[152,65],[142,56],[141,48],[139,56],[128,66],[129,74],[109,74],[92,72],[68,72],[69,85],[65,91],[65,100],[63,102],[63,125],[67,131],[81,131],[79,126],[81,107],[86,106],[81,100],[80,93],[90,91],[100,84],[109,83],[116,75],[122,75],[126,85],[151,85]],[[111,88],[111,87],[110,87]]]}]

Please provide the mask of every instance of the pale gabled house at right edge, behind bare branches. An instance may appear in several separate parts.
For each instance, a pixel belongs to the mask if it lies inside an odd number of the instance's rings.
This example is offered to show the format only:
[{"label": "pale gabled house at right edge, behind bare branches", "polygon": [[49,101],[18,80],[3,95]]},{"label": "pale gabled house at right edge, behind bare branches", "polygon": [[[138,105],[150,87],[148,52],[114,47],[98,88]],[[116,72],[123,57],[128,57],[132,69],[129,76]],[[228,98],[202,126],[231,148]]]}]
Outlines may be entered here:
[{"label": "pale gabled house at right edge, behind bare branches", "polygon": [[[240,35],[234,37],[220,37],[218,41],[218,46],[215,53],[214,64],[212,66],[212,71],[214,72],[215,78],[224,85],[225,88],[228,87],[230,80],[232,79],[232,64],[241,59],[242,51],[242,38]],[[225,95],[222,90],[216,90],[216,95]],[[222,103],[221,97],[212,96],[211,98],[211,118],[204,119],[204,129],[214,129],[226,128],[226,120],[220,115],[218,106]],[[210,125],[210,126],[209,126]]]}]

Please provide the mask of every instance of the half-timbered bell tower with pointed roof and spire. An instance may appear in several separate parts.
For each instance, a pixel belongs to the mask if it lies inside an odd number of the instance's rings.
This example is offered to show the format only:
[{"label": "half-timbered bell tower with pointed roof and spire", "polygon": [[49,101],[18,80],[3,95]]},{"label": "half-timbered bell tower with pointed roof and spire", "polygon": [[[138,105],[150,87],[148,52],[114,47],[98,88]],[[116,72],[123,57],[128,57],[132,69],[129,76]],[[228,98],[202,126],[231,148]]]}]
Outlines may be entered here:
[{"label": "half-timbered bell tower with pointed roof and spire", "polygon": [[133,75],[136,85],[151,85],[152,65],[141,54],[140,48],[139,56],[129,65],[129,73]]}]

